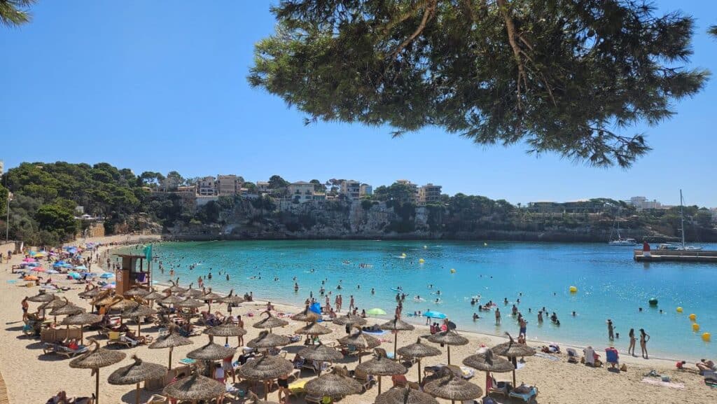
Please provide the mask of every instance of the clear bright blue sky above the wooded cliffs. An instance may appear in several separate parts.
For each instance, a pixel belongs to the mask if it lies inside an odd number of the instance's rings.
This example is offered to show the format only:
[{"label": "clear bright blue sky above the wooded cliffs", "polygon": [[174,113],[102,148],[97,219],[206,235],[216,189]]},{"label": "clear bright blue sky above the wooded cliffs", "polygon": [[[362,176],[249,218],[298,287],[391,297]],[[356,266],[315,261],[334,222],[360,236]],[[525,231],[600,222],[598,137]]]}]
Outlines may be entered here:
[{"label": "clear bright blue sky above the wooded cliffs", "polygon": [[[389,128],[304,126],[302,113],[247,85],[253,45],[273,30],[268,5],[40,0],[31,24],[0,27],[0,159],[249,181],[405,178],[514,203],[642,195],[674,204],[681,187],[685,202],[717,207],[715,80],[646,129],[654,150],[629,170],[475,146],[437,129],[394,139]],[[657,5],[697,18],[691,65],[717,72],[717,41],[705,34],[717,2]]]}]

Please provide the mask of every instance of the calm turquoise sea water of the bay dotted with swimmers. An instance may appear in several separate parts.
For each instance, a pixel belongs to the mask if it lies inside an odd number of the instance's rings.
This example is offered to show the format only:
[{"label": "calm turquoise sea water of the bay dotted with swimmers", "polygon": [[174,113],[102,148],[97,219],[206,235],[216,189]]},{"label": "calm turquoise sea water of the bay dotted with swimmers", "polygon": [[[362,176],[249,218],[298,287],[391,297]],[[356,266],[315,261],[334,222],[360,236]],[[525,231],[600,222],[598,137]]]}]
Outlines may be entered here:
[{"label": "calm turquoise sea water of the bay dotted with swimmers", "polygon": [[[652,337],[648,344],[651,356],[685,360],[717,356],[717,266],[636,263],[630,247],[300,240],[162,243],[156,245],[155,252],[165,268],[163,274],[154,271],[155,280],[167,281],[174,266],[183,286],[191,281],[196,286],[196,278],[211,270],[212,280],[205,284],[214,291],[253,291],[257,299],[302,305],[310,291],[318,296],[321,281],[326,279],[327,291],[343,295],[344,311],[353,294],[359,308],[379,307],[389,314],[396,306],[396,291],[391,288],[402,286],[410,296],[404,301],[404,313],[442,311],[459,329],[490,334],[508,331],[513,335],[518,334],[518,324],[509,314],[512,304],[521,299],[518,308],[528,319],[528,339],[604,348],[609,344],[605,321],[612,319],[619,333],[614,344],[621,351],[627,350],[630,328],[636,332],[644,328]],[[424,263],[419,263],[420,258]],[[193,263],[198,265],[189,271]],[[361,268],[359,263],[369,267]],[[298,292],[293,289],[294,276],[300,286]],[[336,290],[339,283],[343,285],[341,291]],[[429,284],[434,288],[428,288]],[[579,291],[570,293],[569,286]],[[376,291],[373,296],[371,288]],[[440,304],[433,303],[437,296],[431,292],[436,290],[442,292]],[[415,295],[427,301],[414,301]],[[478,295],[483,304],[498,302],[502,325],[496,327],[493,312],[486,311],[473,322],[472,314],[478,306],[471,306],[470,299]],[[651,297],[659,299],[657,307],[647,303]],[[504,298],[511,303],[505,306]],[[323,304],[323,299],[320,302]],[[538,324],[537,311],[543,306],[556,312],[559,327],[547,316]],[[676,312],[678,306],[683,307],[682,314]],[[640,307],[642,312],[638,311]],[[701,326],[698,333],[692,331],[690,313],[697,315]],[[711,332],[714,342],[703,342],[702,332]]]}]

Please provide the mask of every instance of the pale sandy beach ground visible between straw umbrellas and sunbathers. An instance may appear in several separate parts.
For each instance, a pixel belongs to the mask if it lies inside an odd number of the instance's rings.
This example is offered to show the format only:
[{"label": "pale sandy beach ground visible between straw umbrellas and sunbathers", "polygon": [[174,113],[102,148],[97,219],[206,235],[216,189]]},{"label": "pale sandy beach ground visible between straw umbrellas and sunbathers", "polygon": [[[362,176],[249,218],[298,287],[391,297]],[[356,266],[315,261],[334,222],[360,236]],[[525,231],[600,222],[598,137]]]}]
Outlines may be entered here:
[{"label": "pale sandy beach ground visible between straw umbrellas and sunbathers", "polygon": [[[144,236],[143,236],[144,237]],[[90,240],[87,240],[90,241]],[[115,238],[103,238],[101,243],[126,242],[128,236],[115,236]],[[100,261],[106,259],[105,253],[108,253],[108,247],[100,248]],[[22,257],[15,255],[11,263],[0,264],[0,276],[3,278],[0,282],[1,306],[0,316],[5,321],[4,327],[0,334],[0,343],[3,349],[0,349],[0,372],[6,382],[10,403],[45,403],[48,398],[60,390],[67,391],[70,396],[90,395],[94,388],[94,378],[90,377],[90,370],[77,370],[69,367],[70,360],[55,354],[43,354],[42,344],[39,339],[26,337],[22,334],[22,311],[20,301],[24,296],[32,296],[37,294],[38,288],[21,287],[19,283],[8,283],[8,281],[17,279],[17,275],[10,271],[11,265],[18,264]],[[92,269],[95,272],[100,271],[97,268],[99,264],[93,264]],[[65,293],[59,293],[58,296],[67,297],[77,305],[89,309],[86,301],[79,299],[77,293],[82,291],[83,285],[77,283],[60,280],[60,274],[53,276],[53,279],[60,284],[70,286],[72,290]],[[244,290],[238,285],[237,291],[243,294]],[[266,296],[260,296],[255,291],[255,299],[262,299]],[[34,311],[38,304],[31,303],[30,311]],[[252,324],[260,319],[260,312],[265,308],[263,301],[254,301],[244,303],[239,308],[235,308],[232,314],[241,314],[245,321],[245,329],[248,334],[244,337],[245,341],[256,337],[260,329],[255,329]],[[226,307],[221,308],[222,311]],[[279,312],[296,313],[303,308],[295,306],[276,305]],[[247,316],[249,313],[255,315]],[[378,320],[379,324],[381,320]],[[322,338],[323,341],[333,341],[345,335],[343,327],[336,324],[323,323],[331,327],[334,332]],[[373,324],[369,319],[369,325]],[[302,327],[304,324],[292,321],[287,327],[275,329],[277,334],[292,334],[294,329]],[[458,324],[460,329],[460,324]],[[94,337],[95,332],[87,332],[87,337]],[[150,334],[156,337],[157,329],[146,325],[143,327],[143,334]],[[429,334],[428,328],[425,326],[417,326],[412,332],[401,332],[399,334],[399,347],[416,342],[418,337]],[[452,347],[451,356],[453,364],[460,364],[463,358],[475,353],[480,344],[493,346],[500,342],[505,342],[504,338],[483,334],[462,333],[470,339],[470,344]],[[384,342],[381,347],[386,351],[392,352],[394,349],[393,335],[384,334],[381,336]],[[186,352],[196,349],[204,344],[208,338],[205,335],[191,337],[194,345],[186,347],[178,347],[174,350],[174,357],[179,360],[184,357]],[[105,338],[98,337],[101,345],[105,345]],[[230,339],[230,344],[236,344],[236,339]],[[429,342],[426,342],[430,344]],[[678,343],[678,342],[675,342]],[[534,342],[530,342],[531,346],[536,346]],[[289,352],[288,358],[302,348],[303,344],[298,342],[291,344],[285,349]],[[571,403],[708,403],[717,402],[717,389],[713,389],[704,384],[703,378],[697,374],[694,364],[685,365],[686,370],[676,370],[673,360],[643,360],[639,357],[628,357],[625,354],[620,355],[620,363],[627,364],[626,372],[609,372],[606,367],[592,368],[581,364],[570,364],[566,360],[565,349],[561,346],[563,353],[551,355],[551,357],[526,357],[525,367],[518,370],[516,378],[518,383],[526,382],[529,385],[536,385],[539,390],[538,403],[555,403],[555,404],[571,404]],[[602,353],[604,358],[605,347],[595,347],[596,351]],[[622,349],[623,347],[619,347]],[[131,349],[123,349],[128,354],[128,358],[122,362],[105,367],[100,370],[100,402],[101,403],[133,403],[134,390],[132,386],[109,385],[107,376],[118,367],[128,365],[130,363],[129,356],[138,354],[143,360],[148,362],[156,362],[165,365],[167,360],[167,351],[164,349],[148,349],[146,346],[135,347]],[[639,347],[638,347],[639,351]],[[579,351],[580,352],[580,351]],[[581,353],[581,352],[580,352]],[[368,357],[366,357],[368,358]],[[715,359],[715,358],[710,358]],[[438,357],[428,357],[422,360],[422,366],[437,365],[445,363],[445,353]],[[353,369],[358,364],[356,358],[344,358],[340,365],[346,365],[349,369]],[[672,381],[672,385],[653,385],[643,382],[645,378],[643,374],[650,370],[656,370],[661,375],[667,375]],[[304,371],[302,377],[314,377],[313,372]],[[407,374],[408,380],[417,380],[417,367],[413,366]],[[497,380],[510,380],[510,373],[495,374]],[[472,382],[484,387],[485,375],[483,372],[476,372]],[[390,385],[388,377],[384,377],[384,391]],[[343,400],[342,403],[373,403],[377,393],[377,388],[372,387],[368,392],[362,395],[351,395]],[[142,390],[143,402],[152,393]],[[272,391],[270,399],[277,400],[277,393]],[[441,403],[449,403],[448,400],[439,400]],[[225,402],[232,402],[225,400]],[[300,397],[292,397],[291,403],[303,403]],[[501,401],[503,402],[503,401]]]}]

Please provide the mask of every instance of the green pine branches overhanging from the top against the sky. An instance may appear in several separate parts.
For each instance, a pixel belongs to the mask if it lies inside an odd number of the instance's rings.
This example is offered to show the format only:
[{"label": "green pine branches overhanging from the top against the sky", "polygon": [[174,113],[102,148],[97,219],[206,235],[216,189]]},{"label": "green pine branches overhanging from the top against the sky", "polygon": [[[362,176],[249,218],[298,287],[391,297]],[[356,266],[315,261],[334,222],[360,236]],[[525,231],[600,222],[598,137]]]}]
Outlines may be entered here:
[{"label": "green pine branches overhanging from the top against the sky", "polygon": [[708,73],[686,67],[693,19],[632,0],[282,0],[248,80],[311,121],[437,126],[630,166],[642,133]]}]

